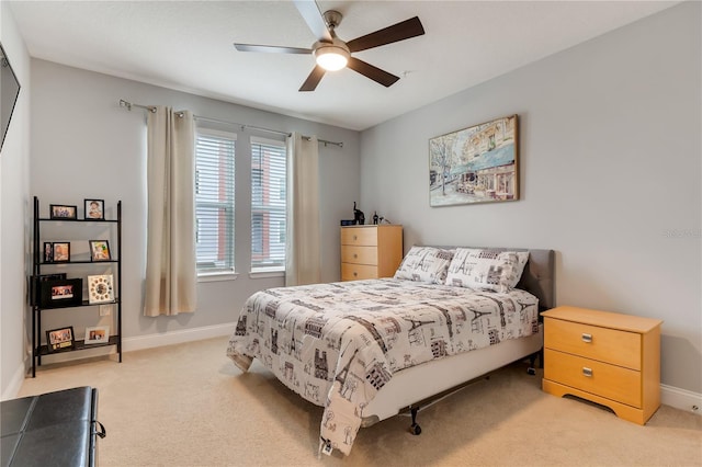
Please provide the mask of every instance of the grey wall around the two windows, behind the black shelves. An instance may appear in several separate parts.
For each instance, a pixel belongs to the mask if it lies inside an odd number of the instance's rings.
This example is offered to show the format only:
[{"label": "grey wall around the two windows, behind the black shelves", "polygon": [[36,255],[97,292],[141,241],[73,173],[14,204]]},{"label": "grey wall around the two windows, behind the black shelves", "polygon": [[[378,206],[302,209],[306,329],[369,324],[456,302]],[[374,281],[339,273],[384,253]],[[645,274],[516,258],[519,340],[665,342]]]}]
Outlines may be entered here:
[{"label": "grey wall around the two windows, behind the black shelves", "polygon": [[[358,132],[33,59],[31,193],[39,197],[44,215],[48,213],[49,203],[76,204],[79,215],[82,215],[83,198],[104,198],[107,209],[122,200],[125,339],[134,341],[136,338],[223,324],[231,324],[234,329],[233,322],[245,299],[258,289],[282,286],[283,278],[248,276],[250,213],[238,209],[236,267],[241,273],[239,278],[200,283],[195,314],[159,318],[143,316],[146,116],[143,110],[128,112],[121,109],[120,99],[188,109],[205,117],[284,132],[297,130],[331,141],[343,141],[343,148],[319,146],[322,280],[339,280],[339,219],[351,215],[353,201],[360,196]],[[238,174],[238,198],[249,197],[248,180],[247,173]],[[88,310],[88,315],[83,315],[82,309],[80,315],[52,310],[50,315],[44,314],[45,327],[52,329],[52,326],[72,323],[80,337],[83,327],[98,316],[97,309]]]}]

